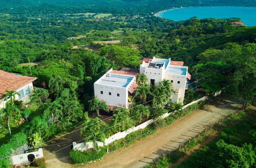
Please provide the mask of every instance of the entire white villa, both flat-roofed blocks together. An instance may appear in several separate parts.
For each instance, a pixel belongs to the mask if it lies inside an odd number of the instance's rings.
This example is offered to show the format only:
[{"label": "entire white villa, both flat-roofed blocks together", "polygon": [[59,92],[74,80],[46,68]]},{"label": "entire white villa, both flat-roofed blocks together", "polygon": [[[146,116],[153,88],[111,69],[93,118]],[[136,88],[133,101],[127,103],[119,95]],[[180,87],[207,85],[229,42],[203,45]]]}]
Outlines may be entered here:
[{"label": "entire white villa, both flat-roofed blocks together", "polygon": [[[164,79],[173,84],[175,94],[173,102],[183,104],[185,90],[188,87],[187,79],[190,80],[188,67],[184,62],[171,61],[170,59],[143,59],[140,65],[140,74],[145,74],[148,83],[158,84]],[[116,71],[110,69],[94,83],[94,95],[99,100],[105,101],[110,110],[115,108],[128,108],[128,97],[137,88],[136,72]]]}]

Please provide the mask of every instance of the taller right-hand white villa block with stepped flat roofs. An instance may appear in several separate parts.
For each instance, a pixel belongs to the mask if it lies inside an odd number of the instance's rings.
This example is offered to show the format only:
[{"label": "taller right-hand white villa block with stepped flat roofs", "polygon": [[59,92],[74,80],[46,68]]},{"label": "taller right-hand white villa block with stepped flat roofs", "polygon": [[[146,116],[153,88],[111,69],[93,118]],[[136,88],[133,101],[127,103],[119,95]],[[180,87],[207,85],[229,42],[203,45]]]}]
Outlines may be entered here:
[{"label": "taller right-hand white villa block with stepped flat roofs", "polygon": [[188,73],[188,67],[183,66],[184,62],[171,61],[170,59],[143,59],[140,65],[140,74],[145,74],[148,83],[157,84],[164,79],[173,84],[175,94],[172,101],[183,104],[185,90],[188,87],[187,79],[191,75]]}]

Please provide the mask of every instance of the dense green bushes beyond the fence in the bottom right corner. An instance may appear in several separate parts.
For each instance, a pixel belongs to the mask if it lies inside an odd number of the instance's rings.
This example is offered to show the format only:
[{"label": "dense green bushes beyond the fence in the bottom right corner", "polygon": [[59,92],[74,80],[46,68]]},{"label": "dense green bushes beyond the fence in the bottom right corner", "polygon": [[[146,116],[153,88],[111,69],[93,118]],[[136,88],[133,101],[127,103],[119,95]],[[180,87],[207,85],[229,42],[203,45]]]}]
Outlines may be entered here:
[{"label": "dense green bushes beyond the fence in the bottom right corner", "polygon": [[178,167],[254,167],[255,159],[255,123],[246,119],[234,128],[225,128],[217,141]]}]

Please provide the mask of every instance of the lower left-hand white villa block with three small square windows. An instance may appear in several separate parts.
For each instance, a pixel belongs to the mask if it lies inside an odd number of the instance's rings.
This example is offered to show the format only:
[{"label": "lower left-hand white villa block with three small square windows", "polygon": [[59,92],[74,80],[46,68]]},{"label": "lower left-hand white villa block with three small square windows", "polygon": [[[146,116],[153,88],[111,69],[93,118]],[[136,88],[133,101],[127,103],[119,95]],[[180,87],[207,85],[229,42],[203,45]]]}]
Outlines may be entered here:
[{"label": "lower left-hand white villa block with three small square windows", "polygon": [[105,101],[110,110],[120,107],[128,108],[128,97],[137,88],[137,74],[110,69],[94,83],[95,97]]}]

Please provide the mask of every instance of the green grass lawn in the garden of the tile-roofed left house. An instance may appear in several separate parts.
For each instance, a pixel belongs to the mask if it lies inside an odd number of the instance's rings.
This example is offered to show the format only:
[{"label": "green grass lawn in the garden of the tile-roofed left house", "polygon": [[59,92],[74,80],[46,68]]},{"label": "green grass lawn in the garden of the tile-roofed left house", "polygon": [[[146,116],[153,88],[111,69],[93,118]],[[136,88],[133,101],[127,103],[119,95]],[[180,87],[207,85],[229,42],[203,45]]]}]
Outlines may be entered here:
[{"label": "green grass lawn in the garden of the tile-roofed left house", "polygon": [[[29,116],[29,121],[31,121],[32,118],[39,116],[41,114],[41,111],[37,109],[37,105],[34,104],[30,107],[28,107],[29,110],[31,110],[31,114]],[[12,134],[18,133],[20,130],[22,130],[28,123],[29,121],[26,121],[21,125],[19,125],[18,127],[11,127],[11,132]],[[0,129],[0,132],[2,132],[3,129]],[[7,143],[7,141],[10,139],[10,134],[9,134],[9,130],[6,129],[4,130],[4,132],[2,132],[0,134],[0,145]]]}]

